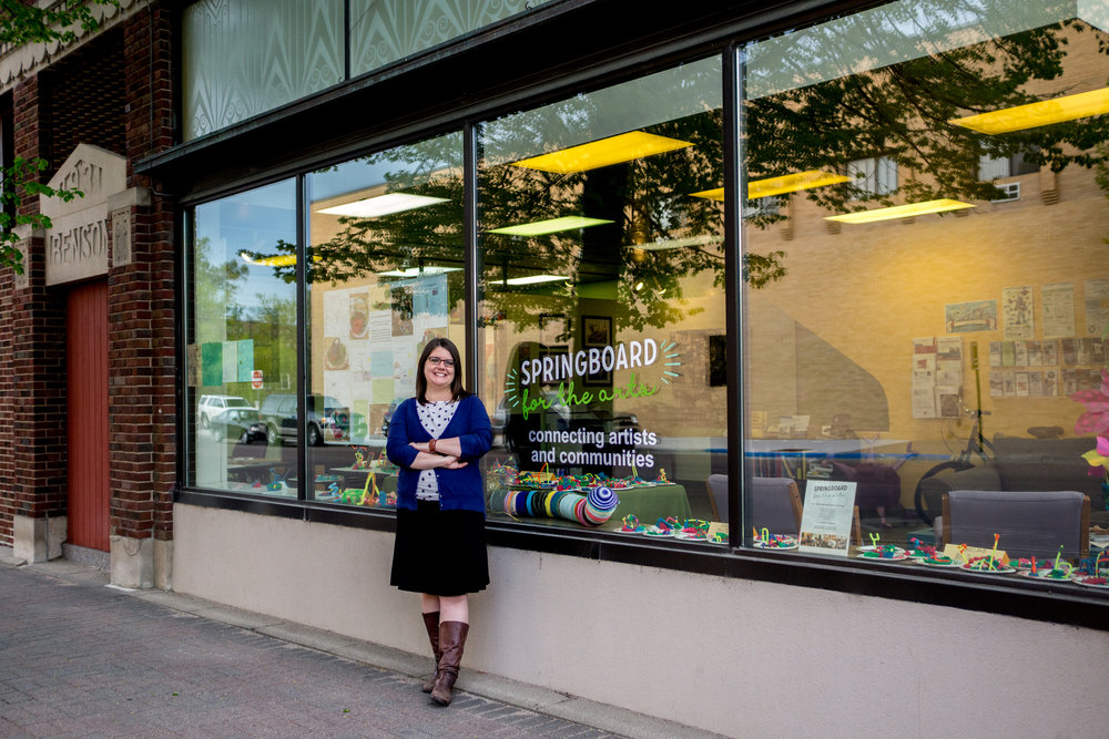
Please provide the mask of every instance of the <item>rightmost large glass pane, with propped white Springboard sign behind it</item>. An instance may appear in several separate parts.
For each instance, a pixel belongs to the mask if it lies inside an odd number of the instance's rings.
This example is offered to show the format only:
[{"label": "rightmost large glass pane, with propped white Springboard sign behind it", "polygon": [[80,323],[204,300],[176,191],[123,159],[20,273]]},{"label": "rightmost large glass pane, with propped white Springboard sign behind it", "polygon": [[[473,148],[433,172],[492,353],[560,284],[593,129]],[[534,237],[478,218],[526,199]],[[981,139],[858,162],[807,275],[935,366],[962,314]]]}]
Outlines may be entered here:
[{"label": "rightmost large glass pane, with propped white Springboard sign behind it", "polygon": [[792,483],[802,551],[1004,552],[1062,579],[1060,552],[1088,556],[1105,469],[1082,455],[1109,431],[1087,412],[1109,318],[1096,4],[904,0],[744,51],[747,194],[776,201],[745,226],[776,270],[745,285],[745,542],[796,545]]}]

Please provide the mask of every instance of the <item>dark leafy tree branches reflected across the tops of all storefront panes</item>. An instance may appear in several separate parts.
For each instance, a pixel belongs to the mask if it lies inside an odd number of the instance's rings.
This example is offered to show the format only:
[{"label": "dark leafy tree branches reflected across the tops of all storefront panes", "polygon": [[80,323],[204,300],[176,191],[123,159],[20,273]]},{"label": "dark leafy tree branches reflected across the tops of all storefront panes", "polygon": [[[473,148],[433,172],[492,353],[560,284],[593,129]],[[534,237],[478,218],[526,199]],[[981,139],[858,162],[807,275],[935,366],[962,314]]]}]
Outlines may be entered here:
[{"label": "dark leafy tree branches reflected across the tops of all storefront panes", "polygon": [[[978,181],[983,155],[1020,154],[1056,172],[1105,163],[1106,151],[1099,145],[1109,138],[1109,116],[995,136],[949,123],[1051,96],[1028,91],[1060,78],[1070,34],[1098,33],[1100,53],[1107,51],[1103,34],[1079,22],[1020,30],[968,45],[952,41],[967,32],[968,19],[1001,16],[1003,8],[999,0],[894,3],[879,9],[884,23],[875,24],[874,16],[846,18],[808,33],[805,53],[784,55],[784,69],[775,70],[775,75],[806,80],[820,66],[830,70],[826,76],[832,79],[752,93],[745,101],[743,145],[749,178],[807,170],[843,172],[848,162],[876,156],[896,162],[902,177],[893,193],[875,194],[845,183],[796,195],[830,212],[844,212],[866,208],[875,201],[893,204],[894,198],[991,199],[996,188]],[[902,38],[896,40],[898,33]],[[934,40],[945,40],[947,47],[925,47]],[[849,68],[868,59],[889,59],[891,49],[903,54],[896,63],[862,73]],[[659,100],[688,97],[686,89],[699,84],[719,89],[719,70],[713,64],[691,64],[682,73],[660,78]],[[757,76],[757,70],[752,74]],[[1052,94],[1067,92],[1062,83],[1056,83]],[[716,285],[723,283],[722,205],[691,196],[723,184],[723,122],[715,103],[644,126],[692,144],[663,155],[570,174],[506,164],[588,137],[583,132],[603,120],[604,112],[589,94],[582,94],[482,129],[484,145],[498,152],[497,161],[486,162],[479,173],[482,312],[505,314],[518,329],[537,328],[541,314],[574,315],[588,286],[608,285],[617,327],[661,327],[691,314],[683,295],[690,278],[706,275]],[[339,218],[333,238],[308,247],[309,279],[340,283],[406,267],[460,267],[460,137],[451,135],[367,157],[372,164],[391,165],[386,192],[449,202],[372,219]],[[488,233],[503,225],[567,215],[611,223],[536,237]],[[765,227],[782,217],[764,212],[749,223]],[[277,245],[279,254],[293,252],[291,244]],[[762,287],[784,277],[785,254],[746,253],[742,268],[751,287]],[[275,270],[285,279],[293,278],[292,267]],[[542,287],[508,284],[513,275],[551,271],[569,281]],[[462,291],[461,278],[450,277],[452,307]]]}]

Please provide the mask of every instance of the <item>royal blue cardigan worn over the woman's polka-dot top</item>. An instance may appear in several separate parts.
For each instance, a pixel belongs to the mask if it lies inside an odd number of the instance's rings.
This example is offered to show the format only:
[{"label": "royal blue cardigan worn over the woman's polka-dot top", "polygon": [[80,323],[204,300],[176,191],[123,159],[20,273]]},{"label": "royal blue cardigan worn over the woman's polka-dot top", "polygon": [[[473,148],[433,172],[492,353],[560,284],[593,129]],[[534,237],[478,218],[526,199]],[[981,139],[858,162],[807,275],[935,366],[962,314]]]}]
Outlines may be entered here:
[{"label": "royal blue cardigan worn over the woman's polka-dot top", "polygon": [[[439,506],[444,511],[462,510],[485,513],[485,486],[481,483],[481,469],[478,460],[492,445],[492,424],[485,404],[477,396],[467,396],[458,401],[450,423],[440,434],[444,439],[458,437],[462,453],[459,459],[469,462],[460,470],[433,470],[439,483]],[[407,510],[416,509],[416,481],[420,470],[413,470],[411,463],[419,453],[409,442],[430,441],[431,435],[420,423],[416,412],[416,399],[409,398],[400,403],[389,421],[389,438],[385,443],[385,453],[389,461],[400,468],[397,480],[397,506]]]}]

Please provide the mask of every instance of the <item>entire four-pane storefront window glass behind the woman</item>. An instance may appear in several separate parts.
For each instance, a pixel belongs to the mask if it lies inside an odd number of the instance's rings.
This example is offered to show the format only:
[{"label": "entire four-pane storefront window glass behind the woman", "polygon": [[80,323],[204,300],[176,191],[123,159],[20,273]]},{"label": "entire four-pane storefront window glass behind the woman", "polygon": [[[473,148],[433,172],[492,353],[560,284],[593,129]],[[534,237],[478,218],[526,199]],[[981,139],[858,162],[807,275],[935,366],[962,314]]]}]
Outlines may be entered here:
[{"label": "entire four-pane storefront window glass behind the woman", "polygon": [[196,206],[187,483],[395,506],[388,424],[441,336],[477,348],[518,531],[1109,575],[1090,12],[902,0],[478,122],[476,172],[458,131]]}]

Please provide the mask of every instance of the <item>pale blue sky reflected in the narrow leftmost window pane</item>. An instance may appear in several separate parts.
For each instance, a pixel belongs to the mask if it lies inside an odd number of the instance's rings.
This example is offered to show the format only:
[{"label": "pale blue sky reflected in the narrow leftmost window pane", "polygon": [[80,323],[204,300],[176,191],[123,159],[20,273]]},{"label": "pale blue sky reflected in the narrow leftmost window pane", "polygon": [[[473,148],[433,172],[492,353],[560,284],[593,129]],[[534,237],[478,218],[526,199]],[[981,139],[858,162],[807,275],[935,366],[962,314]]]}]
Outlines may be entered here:
[{"label": "pale blue sky reflected in the narrow leftmost window pane", "polygon": [[[241,252],[277,253],[277,242],[296,242],[296,183],[285,181],[233,195],[196,208],[196,237],[210,242],[211,259],[223,264],[246,264]],[[295,285],[274,276],[274,268],[250,265],[237,281],[237,302],[248,312],[258,306],[260,295],[293,298]]]}]

